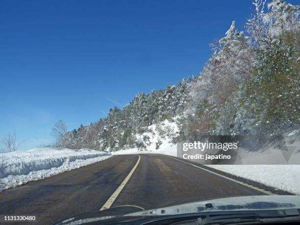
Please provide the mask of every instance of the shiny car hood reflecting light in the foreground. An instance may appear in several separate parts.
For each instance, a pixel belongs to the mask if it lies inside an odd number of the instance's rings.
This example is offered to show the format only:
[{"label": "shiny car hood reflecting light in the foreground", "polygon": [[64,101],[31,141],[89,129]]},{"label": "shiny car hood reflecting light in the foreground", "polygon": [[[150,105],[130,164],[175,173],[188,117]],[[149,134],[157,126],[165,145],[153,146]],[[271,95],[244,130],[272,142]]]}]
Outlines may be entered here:
[{"label": "shiny car hood reflecting light in the foreground", "polygon": [[180,214],[209,213],[222,211],[300,209],[300,196],[241,196],[201,200],[175,206],[142,210],[140,207],[124,205],[106,210],[85,213],[64,220],[57,225],[114,224]]}]

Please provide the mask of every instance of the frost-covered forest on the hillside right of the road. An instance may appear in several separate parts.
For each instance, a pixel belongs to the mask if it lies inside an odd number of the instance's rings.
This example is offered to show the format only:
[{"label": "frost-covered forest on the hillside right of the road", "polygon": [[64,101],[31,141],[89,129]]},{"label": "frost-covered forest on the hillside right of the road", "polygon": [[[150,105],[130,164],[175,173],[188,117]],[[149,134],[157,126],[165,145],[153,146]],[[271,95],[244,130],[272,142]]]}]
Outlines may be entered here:
[{"label": "frost-covered forest on the hillside right of the road", "polygon": [[[202,72],[164,90],[138,93],[106,118],[68,131],[53,127],[56,147],[116,151],[146,148],[136,135],[170,120],[188,135],[282,135],[300,130],[300,6],[255,0],[245,31],[232,22],[211,44]],[[161,132],[165,132],[161,130]],[[147,139],[147,136],[144,136]],[[159,148],[159,143],[157,143]]]}]

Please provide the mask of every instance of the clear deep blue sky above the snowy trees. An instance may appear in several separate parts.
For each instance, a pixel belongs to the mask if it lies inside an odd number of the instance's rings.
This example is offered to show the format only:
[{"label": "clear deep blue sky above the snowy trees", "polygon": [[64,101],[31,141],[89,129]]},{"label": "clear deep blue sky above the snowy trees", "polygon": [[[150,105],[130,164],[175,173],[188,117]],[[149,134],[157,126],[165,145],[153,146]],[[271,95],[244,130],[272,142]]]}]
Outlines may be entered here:
[{"label": "clear deep blue sky above the snowy trees", "polygon": [[50,144],[59,119],[74,129],[197,75],[251,12],[251,0],[1,0],[0,136]]}]

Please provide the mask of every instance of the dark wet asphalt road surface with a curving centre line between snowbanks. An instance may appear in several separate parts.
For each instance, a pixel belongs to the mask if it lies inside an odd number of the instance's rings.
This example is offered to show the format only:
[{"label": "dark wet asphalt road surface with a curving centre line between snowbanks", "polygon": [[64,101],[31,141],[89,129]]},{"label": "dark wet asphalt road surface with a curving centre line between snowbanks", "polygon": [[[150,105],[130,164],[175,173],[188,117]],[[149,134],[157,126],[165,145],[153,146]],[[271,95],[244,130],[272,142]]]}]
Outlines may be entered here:
[{"label": "dark wet asphalt road surface with a curving centre line between snowbanks", "polygon": [[[0,214],[33,214],[39,225],[51,225],[100,210],[138,159],[138,155],[118,155],[0,192]],[[147,210],[243,195],[265,193],[169,156],[140,154],[136,169],[112,207],[137,205]]]}]

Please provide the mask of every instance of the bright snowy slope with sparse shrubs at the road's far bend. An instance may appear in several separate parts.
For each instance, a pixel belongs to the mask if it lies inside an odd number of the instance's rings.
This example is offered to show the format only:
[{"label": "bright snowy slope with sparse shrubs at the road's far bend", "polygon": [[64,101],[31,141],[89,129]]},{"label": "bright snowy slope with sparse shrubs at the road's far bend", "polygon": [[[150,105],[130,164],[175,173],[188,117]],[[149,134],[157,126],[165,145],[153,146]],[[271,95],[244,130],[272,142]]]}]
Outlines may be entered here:
[{"label": "bright snowy slope with sparse shrubs at the road's far bend", "polygon": [[132,148],[111,152],[112,154],[140,154],[159,153],[166,155],[177,155],[176,144],[172,143],[172,137],[178,131],[175,122],[165,120],[156,125],[150,125],[146,131],[136,135],[136,138],[144,148]]}]

